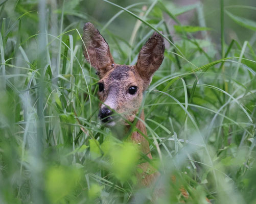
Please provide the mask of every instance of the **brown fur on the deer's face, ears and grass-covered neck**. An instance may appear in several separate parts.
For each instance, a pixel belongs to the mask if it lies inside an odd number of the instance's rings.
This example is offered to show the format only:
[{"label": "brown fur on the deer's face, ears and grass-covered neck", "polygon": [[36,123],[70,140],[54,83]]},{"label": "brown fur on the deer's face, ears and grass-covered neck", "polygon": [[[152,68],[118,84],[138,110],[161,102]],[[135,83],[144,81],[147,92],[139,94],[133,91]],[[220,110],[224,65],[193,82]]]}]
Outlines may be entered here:
[{"label": "brown fur on the deer's face, ears and grass-covered neck", "polygon": [[[106,123],[106,126],[123,124],[129,129],[126,121],[133,122],[141,106],[143,92],[149,86],[154,72],[159,68],[164,59],[165,44],[164,39],[159,33],[153,33],[149,40],[142,47],[138,55],[136,65],[118,65],[114,63],[109,46],[100,32],[90,22],[84,25],[83,31],[84,57],[95,67],[99,73],[99,83],[104,85],[104,91],[99,91],[99,99],[102,101],[101,109],[110,108],[119,113],[123,118]],[[136,87],[135,94],[129,94],[129,87]],[[144,121],[144,112],[141,114]],[[138,132],[133,132],[130,140],[134,143],[140,143],[141,150],[149,159],[152,159],[145,124],[138,120],[136,127],[144,136]],[[139,184],[148,186],[154,181],[158,173],[153,171],[149,163],[139,164],[143,173],[138,173]],[[146,173],[148,172],[149,173]]]}]

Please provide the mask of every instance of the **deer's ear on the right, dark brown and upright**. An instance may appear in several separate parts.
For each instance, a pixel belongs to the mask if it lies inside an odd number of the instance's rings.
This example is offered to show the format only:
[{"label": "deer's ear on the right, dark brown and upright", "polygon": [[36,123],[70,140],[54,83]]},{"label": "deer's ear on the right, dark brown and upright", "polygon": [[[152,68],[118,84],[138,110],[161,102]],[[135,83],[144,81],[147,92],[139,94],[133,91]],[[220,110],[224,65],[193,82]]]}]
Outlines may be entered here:
[{"label": "deer's ear on the right, dark brown and upright", "polygon": [[135,65],[139,75],[144,80],[144,90],[151,83],[154,72],[164,60],[165,43],[164,38],[157,32],[148,39],[138,54]]}]

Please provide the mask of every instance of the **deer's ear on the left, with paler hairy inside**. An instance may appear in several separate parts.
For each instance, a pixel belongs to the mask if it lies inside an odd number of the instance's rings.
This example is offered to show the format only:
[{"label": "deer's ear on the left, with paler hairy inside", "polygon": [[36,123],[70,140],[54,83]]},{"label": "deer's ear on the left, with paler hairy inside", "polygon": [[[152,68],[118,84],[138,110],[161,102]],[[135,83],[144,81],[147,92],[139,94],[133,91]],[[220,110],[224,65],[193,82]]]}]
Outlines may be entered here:
[{"label": "deer's ear on the left, with paler hairy inside", "polygon": [[114,63],[108,43],[100,32],[90,22],[84,24],[83,29],[83,54],[91,66],[98,71],[100,78],[112,68]]}]

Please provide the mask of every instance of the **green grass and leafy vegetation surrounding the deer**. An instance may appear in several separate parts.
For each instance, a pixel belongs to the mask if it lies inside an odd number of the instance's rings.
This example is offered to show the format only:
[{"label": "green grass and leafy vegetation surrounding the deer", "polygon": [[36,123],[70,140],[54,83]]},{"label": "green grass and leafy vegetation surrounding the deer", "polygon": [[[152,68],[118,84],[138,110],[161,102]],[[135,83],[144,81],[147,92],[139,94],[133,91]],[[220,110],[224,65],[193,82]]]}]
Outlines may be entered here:
[{"label": "green grass and leafy vegetation surrounding the deer", "polygon": [[[0,203],[255,204],[255,10],[254,0],[1,0]],[[150,188],[133,176],[145,157],[98,121],[87,21],[119,64],[164,33],[142,106],[161,172]]]}]

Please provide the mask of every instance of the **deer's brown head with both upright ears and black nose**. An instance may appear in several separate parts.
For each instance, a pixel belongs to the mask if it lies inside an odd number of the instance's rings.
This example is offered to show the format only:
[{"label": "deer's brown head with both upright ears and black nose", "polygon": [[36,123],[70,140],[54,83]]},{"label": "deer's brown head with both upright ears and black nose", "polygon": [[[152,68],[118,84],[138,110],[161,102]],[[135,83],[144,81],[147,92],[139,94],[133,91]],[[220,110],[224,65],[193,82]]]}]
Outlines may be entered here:
[{"label": "deer's brown head with both upright ears and black nose", "polygon": [[[84,25],[83,41],[84,57],[100,77],[98,95],[102,101],[99,111],[102,123],[114,126],[117,121],[132,122],[142,103],[143,92],[164,59],[164,39],[153,33],[140,50],[135,66],[115,64],[108,43],[90,22]],[[114,112],[122,114],[123,119]]]}]

